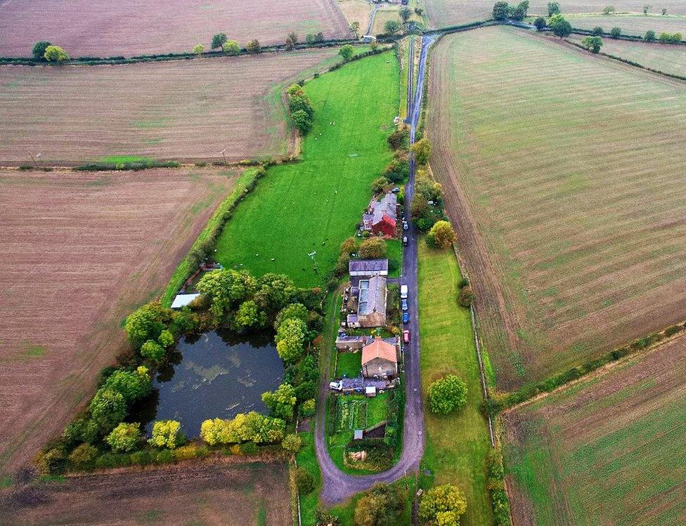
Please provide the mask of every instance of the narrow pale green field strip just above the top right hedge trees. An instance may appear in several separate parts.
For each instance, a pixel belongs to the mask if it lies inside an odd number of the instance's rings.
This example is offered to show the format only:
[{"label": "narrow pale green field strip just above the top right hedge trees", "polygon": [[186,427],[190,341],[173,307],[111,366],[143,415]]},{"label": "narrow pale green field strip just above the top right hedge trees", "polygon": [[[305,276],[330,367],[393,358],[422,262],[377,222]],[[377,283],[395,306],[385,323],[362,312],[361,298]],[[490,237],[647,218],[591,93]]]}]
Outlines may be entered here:
[{"label": "narrow pale green field strip just above the top right hedge trees", "polygon": [[[659,37],[661,32],[686,34],[686,16],[661,15],[590,15],[568,16],[567,20],[578,29],[593,29],[602,27],[609,32],[613,27],[619,27],[622,34],[642,37],[648,29],[652,29]],[[606,43],[611,39],[605,39]]]}]

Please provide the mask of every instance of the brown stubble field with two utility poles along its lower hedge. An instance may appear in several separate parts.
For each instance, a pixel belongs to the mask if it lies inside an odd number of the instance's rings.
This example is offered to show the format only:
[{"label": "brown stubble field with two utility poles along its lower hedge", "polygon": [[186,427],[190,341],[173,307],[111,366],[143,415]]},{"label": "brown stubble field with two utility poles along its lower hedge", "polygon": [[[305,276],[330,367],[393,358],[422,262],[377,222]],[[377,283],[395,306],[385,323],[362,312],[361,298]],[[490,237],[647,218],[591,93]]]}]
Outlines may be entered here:
[{"label": "brown stubble field with two utility poles along its lower hedge", "polygon": [[[337,49],[124,66],[0,67],[0,163],[284,154],[280,88]],[[304,73],[303,73],[304,74]]]}]

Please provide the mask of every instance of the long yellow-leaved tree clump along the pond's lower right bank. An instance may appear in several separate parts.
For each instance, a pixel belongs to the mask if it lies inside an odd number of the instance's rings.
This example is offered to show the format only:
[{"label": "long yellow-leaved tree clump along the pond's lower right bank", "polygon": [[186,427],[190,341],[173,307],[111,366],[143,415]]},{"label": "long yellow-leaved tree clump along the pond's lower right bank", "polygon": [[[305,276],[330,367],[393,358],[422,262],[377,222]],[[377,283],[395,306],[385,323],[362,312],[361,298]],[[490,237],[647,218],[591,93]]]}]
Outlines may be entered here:
[{"label": "long yellow-leaved tree clump along the pond's lower right bank", "polygon": [[239,413],[234,419],[205,420],[200,426],[200,438],[208,445],[271,444],[285,437],[286,423],[282,419],[257,412]]}]

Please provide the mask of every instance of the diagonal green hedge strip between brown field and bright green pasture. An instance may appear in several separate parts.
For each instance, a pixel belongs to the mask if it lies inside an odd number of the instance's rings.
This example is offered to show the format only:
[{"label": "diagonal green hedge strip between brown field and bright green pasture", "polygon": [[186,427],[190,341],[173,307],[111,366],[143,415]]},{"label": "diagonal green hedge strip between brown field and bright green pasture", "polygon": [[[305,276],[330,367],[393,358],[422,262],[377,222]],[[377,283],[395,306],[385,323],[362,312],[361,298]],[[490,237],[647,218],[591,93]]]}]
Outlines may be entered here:
[{"label": "diagonal green hedge strip between brown field and bright green pasture", "polygon": [[171,275],[169,284],[164,289],[164,294],[162,294],[162,299],[160,300],[162,305],[165,307],[171,305],[171,302],[174,301],[174,296],[183,287],[183,283],[195,272],[198,265],[202,263],[207,254],[209,254],[209,251],[214,247],[216,237],[221,232],[221,229],[224,228],[226,221],[231,218],[236,205],[255,188],[257,181],[265,173],[264,166],[258,166],[257,168],[247,169],[240,175],[231,194],[214,211],[209,221],[207,221],[207,225],[198,235],[198,239],[195,239],[195,243],[190,247],[186,257],[181,260],[174,274]]}]

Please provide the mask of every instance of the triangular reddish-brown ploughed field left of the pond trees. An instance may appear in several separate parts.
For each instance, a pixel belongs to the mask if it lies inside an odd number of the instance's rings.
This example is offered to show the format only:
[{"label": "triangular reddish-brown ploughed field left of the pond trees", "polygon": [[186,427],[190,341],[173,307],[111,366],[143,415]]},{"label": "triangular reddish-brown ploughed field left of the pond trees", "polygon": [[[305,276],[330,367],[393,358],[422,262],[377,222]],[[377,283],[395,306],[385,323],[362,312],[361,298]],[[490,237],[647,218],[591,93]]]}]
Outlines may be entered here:
[{"label": "triangular reddish-brown ploughed field left of the pond trees", "polygon": [[58,434],[235,173],[0,172],[0,474]]}]

